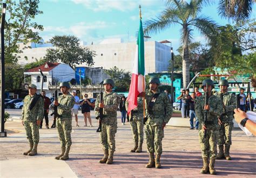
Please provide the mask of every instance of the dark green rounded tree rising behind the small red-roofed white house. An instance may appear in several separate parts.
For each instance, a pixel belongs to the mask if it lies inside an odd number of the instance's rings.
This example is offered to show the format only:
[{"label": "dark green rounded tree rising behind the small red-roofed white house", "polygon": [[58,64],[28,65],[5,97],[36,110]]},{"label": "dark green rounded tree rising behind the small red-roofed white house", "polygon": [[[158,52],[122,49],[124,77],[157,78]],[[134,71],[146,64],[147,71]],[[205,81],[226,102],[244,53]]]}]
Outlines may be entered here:
[{"label": "dark green rounded tree rising behind the small red-roofed white house", "polygon": [[79,39],[75,36],[56,35],[50,42],[55,48],[46,49],[45,59],[49,62],[63,62],[75,69],[76,65],[86,63],[87,66],[93,66],[93,57],[95,51],[79,45]]}]

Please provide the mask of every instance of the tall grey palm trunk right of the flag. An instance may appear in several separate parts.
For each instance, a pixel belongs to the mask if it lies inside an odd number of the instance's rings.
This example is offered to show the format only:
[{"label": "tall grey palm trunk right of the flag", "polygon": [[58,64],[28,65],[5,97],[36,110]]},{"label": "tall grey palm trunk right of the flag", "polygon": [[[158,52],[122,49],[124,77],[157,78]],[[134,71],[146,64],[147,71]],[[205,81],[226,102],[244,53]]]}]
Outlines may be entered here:
[{"label": "tall grey palm trunk right of the flag", "polygon": [[183,76],[183,87],[186,89],[188,83],[190,83],[190,52],[188,49],[188,31],[184,30],[183,39],[183,61],[182,61],[182,76]]}]

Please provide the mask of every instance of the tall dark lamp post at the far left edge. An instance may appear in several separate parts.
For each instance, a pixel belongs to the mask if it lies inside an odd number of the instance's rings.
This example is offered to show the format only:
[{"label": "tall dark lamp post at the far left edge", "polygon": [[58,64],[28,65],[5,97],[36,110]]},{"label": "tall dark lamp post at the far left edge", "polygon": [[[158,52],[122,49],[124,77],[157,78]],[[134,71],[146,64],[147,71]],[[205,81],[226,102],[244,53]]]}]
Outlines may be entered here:
[{"label": "tall dark lamp post at the far left edge", "polygon": [[2,6],[2,20],[1,20],[1,134],[0,137],[6,137],[4,130],[4,22],[5,22],[6,3]]}]

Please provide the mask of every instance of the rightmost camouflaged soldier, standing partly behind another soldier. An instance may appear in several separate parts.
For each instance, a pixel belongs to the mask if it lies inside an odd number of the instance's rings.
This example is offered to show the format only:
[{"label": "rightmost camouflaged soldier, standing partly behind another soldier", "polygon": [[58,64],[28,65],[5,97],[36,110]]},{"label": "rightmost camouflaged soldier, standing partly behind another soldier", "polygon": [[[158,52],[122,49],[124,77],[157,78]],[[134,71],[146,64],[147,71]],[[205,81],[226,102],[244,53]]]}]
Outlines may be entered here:
[{"label": "rightmost camouflaged soldier, standing partly behind another soldier", "polygon": [[[215,96],[223,98],[223,114],[219,118],[220,125],[220,132],[219,132],[219,153],[216,159],[223,159],[231,160],[230,157],[230,145],[232,144],[231,141],[231,133],[234,127],[233,123],[233,110],[235,109],[236,100],[235,96],[232,94],[228,94],[228,81],[227,80],[220,80],[219,82],[220,91],[215,93]],[[224,144],[225,144],[225,154],[224,154]],[[225,157],[224,157],[225,156]]]}]

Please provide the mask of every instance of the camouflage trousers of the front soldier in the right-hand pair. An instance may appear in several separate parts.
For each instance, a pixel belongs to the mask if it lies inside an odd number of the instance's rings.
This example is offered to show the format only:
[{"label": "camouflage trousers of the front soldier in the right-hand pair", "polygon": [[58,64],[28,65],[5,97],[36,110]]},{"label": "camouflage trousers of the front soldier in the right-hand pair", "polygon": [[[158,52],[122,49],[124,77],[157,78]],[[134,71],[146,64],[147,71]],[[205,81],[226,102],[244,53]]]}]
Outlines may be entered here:
[{"label": "camouflage trousers of the front soldier in the right-hand pair", "polygon": [[215,158],[217,155],[218,134],[218,130],[207,130],[206,138],[204,138],[204,130],[199,130],[198,135],[202,158]]}]

